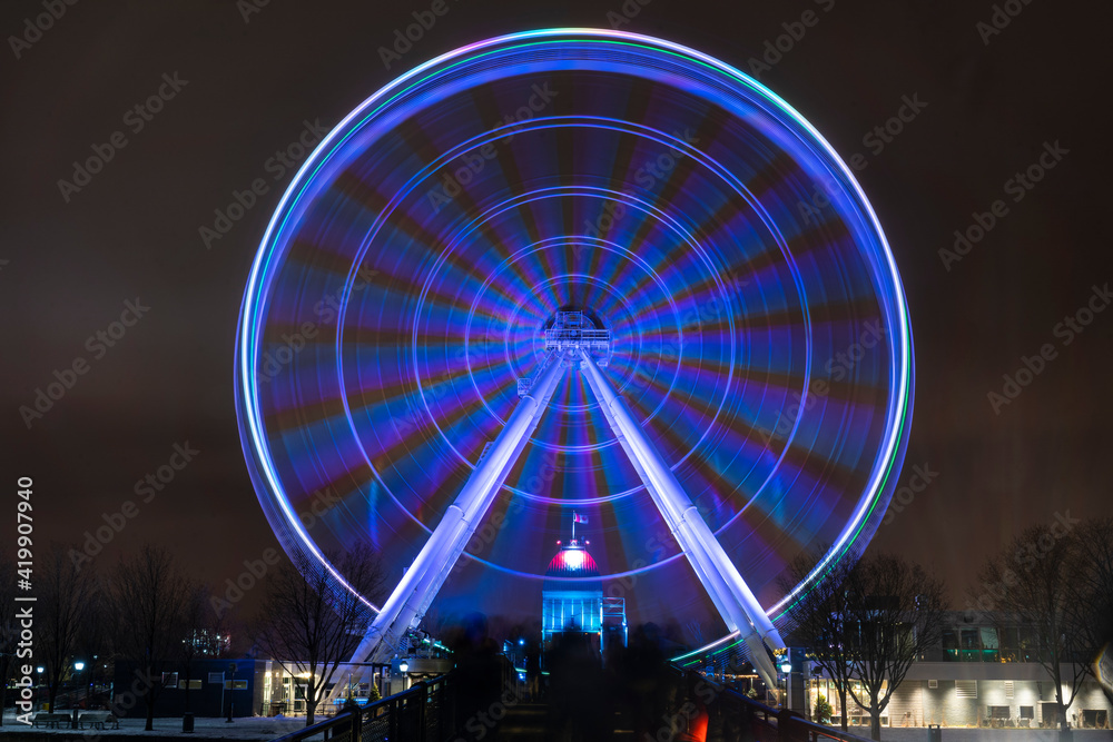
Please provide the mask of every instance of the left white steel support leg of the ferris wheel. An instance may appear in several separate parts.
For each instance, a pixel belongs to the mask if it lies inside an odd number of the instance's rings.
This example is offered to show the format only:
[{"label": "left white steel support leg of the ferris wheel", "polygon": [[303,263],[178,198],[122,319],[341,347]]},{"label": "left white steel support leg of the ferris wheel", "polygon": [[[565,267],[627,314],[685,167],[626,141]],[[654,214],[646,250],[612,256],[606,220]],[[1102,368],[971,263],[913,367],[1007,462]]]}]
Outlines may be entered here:
[{"label": "left white steel support leg of the ferris wheel", "polygon": [[536,429],[556,388],[562,362],[563,354],[553,353],[546,358],[529,394],[519,400],[491,449],[475,466],[402,582],[383,604],[352,662],[388,660],[405,632],[421,622]]}]

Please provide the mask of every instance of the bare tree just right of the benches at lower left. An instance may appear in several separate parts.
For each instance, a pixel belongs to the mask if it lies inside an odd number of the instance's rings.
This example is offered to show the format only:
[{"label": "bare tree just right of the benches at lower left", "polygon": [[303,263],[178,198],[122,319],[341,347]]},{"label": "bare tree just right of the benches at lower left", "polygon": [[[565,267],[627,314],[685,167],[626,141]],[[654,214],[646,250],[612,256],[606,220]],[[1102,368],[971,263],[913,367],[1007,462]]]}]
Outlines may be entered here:
[{"label": "bare tree just right of the benches at lower left", "polygon": [[135,556],[120,560],[110,590],[118,619],[118,654],[139,675],[136,686],[147,708],[145,729],[149,732],[154,730],[155,703],[162,690],[162,671],[181,656],[196,586],[165,548],[148,544]]}]

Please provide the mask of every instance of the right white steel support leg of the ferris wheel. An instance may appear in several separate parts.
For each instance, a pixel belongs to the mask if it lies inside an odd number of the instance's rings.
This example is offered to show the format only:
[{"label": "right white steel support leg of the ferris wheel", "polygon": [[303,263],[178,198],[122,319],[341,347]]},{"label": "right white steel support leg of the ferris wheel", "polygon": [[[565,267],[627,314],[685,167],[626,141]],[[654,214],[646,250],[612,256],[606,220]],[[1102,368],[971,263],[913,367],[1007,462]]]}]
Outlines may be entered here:
[{"label": "right white steel support leg of the ferris wheel", "polygon": [[703,584],[727,627],[739,632],[746,642],[754,667],[770,687],[776,687],[777,670],[762,646],[762,641],[770,650],[782,650],[785,642],[780,634],[680,482],[630,414],[626,402],[614,393],[591,354],[582,349],[579,354],[588,386],[599,399],[603,415],[646,483],[650,497],[696,571],[696,576]]}]

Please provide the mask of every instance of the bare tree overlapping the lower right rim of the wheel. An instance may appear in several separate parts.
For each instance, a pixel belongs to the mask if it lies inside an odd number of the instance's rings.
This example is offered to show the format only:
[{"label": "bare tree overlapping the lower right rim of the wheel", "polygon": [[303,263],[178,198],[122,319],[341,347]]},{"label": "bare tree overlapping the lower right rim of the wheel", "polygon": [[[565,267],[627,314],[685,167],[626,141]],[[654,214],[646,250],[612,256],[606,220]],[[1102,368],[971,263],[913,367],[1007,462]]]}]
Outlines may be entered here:
[{"label": "bare tree overlapping the lower right rim of the wheel", "polygon": [[[818,548],[795,560],[780,581],[781,588],[787,592],[804,582],[825,553],[825,548]],[[833,563],[824,577],[797,598],[792,607],[796,627],[790,634],[794,641],[808,647],[808,659],[835,683],[844,732],[849,715],[846,699],[850,689],[850,644],[847,629],[850,615],[847,600],[850,593],[847,591],[847,582],[853,568],[854,565],[848,560]]]}]

